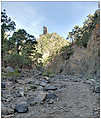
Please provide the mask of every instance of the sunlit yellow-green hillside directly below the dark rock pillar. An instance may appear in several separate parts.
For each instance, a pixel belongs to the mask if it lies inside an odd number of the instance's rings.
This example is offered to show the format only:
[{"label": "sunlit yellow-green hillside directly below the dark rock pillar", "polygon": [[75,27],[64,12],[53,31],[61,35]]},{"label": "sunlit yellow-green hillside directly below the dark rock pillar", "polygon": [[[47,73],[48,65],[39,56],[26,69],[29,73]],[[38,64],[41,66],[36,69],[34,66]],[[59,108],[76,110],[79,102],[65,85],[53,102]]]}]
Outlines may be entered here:
[{"label": "sunlit yellow-green hillside directly below the dark rock pillar", "polygon": [[52,59],[60,53],[60,50],[69,42],[56,33],[42,35],[38,39],[37,50],[42,54],[43,66],[46,66]]}]

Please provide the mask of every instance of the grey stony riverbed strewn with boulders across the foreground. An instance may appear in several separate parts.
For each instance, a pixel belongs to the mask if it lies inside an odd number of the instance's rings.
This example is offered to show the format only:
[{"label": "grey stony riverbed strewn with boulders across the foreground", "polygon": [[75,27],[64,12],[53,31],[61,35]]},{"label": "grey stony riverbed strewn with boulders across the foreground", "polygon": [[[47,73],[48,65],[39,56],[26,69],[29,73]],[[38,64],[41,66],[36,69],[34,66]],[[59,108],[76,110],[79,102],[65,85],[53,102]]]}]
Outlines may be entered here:
[{"label": "grey stony riverbed strewn with boulders across the foreground", "polygon": [[[25,73],[26,74],[26,73]],[[98,118],[99,88],[80,76],[25,74],[2,81],[1,112],[5,118]],[[36,75],[38,74],[38,75]]]}]

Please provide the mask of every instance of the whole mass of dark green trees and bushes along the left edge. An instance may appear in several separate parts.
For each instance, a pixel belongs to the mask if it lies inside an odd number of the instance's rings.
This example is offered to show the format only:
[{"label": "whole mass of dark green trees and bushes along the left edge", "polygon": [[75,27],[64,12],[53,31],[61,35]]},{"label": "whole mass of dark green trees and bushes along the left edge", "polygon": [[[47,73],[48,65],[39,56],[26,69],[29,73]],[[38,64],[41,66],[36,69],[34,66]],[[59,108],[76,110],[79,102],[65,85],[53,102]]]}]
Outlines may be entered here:
[{"label": "whole mass of dark green trees and bushes along the left edge", "polygon": [[19,67],[30,65],[32,59],[36,57],[36,38],[24,29],[19,29],[11,35],[10,32],[15,30],[15,26],[15,22],[6,15],[6,10],[3,10],[1,12],[2,62],[6,61],[7,64]]}]

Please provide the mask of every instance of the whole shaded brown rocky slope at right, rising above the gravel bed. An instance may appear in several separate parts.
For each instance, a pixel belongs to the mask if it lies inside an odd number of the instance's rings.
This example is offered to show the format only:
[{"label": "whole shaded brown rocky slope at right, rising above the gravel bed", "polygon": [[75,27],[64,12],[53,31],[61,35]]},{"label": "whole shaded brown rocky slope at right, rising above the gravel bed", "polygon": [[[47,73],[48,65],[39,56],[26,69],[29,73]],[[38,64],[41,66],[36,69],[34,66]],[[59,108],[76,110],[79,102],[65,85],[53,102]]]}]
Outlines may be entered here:
[{"label": "whole shaded brown rocky slope at right, rising above the gravel bed", "polygon": [[[67,60],[56,56],[48,70],[62,74],[79,74],[87,78],[100,79],[100,25],[92,31],[87,48],[73,46],[74,53]],[[64,52],[64,55],[66,52]]]}]

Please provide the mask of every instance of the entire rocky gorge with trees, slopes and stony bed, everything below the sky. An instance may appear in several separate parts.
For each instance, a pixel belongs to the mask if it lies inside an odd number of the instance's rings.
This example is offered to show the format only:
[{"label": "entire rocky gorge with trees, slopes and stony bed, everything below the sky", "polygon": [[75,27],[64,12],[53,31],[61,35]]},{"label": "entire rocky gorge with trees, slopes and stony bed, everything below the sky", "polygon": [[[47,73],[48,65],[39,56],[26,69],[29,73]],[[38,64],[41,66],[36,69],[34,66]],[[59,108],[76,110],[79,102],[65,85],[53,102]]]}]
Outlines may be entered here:
[{"label": "entire rocky gorge with trees, slopes and stony bed, everything below the sky", "polygon": [[100,10],[87,17],[69,40],[45,26],[37,40],[24,29],[6,39],[2,12],[2,118],[100,118]]}]

